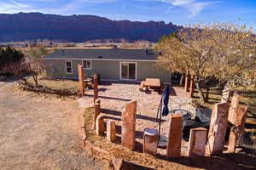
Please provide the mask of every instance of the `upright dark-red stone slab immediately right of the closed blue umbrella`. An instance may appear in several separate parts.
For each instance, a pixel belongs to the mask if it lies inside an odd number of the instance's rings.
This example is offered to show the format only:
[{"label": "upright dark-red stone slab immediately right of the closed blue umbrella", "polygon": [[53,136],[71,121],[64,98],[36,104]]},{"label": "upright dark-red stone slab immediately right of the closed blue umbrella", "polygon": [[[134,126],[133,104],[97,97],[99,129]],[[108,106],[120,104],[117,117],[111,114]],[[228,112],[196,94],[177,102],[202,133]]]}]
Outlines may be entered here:
[{"label": "upright dark-red stone slab immediately right of the closed blue umbrella", "polygon": [[166,154],[168,157],[181,156],[183,114],[171,114],[167,139]]}]

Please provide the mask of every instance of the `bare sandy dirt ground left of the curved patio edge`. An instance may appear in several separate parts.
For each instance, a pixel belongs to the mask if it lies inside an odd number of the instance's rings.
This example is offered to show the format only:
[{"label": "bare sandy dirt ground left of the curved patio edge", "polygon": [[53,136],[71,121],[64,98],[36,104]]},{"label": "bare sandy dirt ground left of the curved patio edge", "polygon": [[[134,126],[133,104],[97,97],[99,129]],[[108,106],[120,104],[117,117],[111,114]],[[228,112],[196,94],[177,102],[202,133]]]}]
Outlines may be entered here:
[{"label": "bare sandy dirt ground left of the curved patio edge", "polygon": [[80,144],[77,101],[0,82],[1,169],[101,169]]}]

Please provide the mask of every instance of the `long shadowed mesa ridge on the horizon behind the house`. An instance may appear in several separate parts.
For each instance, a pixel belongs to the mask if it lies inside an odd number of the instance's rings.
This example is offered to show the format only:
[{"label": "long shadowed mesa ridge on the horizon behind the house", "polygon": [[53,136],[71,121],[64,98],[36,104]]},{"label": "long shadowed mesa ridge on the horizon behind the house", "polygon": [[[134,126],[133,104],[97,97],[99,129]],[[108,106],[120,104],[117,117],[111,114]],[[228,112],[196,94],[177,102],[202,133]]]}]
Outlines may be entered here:
[{"label": "long shadowed mesa ridge on the horizon behind the house", "polygon": [[179,28],[171,22],[108,20],[94,15],[0,14],[0,42],[36,39],[84,42],[106,38],[156,42]]}]

